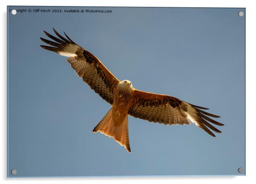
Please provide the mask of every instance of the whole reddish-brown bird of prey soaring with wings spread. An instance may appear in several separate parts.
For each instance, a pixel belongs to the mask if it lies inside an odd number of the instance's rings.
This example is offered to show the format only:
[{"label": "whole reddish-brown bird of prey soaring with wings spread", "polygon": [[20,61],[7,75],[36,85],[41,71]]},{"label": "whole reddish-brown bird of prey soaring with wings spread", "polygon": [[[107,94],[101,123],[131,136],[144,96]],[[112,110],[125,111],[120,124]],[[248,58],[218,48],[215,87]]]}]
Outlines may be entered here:
[{"label": "whole reddish-brown bird of prey soaring with wings spread", "polygon": [[208,108],[192,105],[169,95],[135,89],[129,80],[120,81],[117,79],[102,64],[100,59],[77,45],[65,32],[65,37],[63,37],[54,28],[53,30],[57,37],[44,31],[53,41],[40,38],[51,46],[40,46],[68,57],[67,61],[77,75],[112,106],[94,128],[94,133],[100,132],[113,137],[128,152],[131,152],[128,136],[128,115],[165,125],[190,125],[191,120],[211,136],[215,137],[208,128],[221,133],[220,130],[210,124],[222,126],[222,123],[210,118],[219,118],[220,116],[205,112],[204,110],[208,110]]}]

